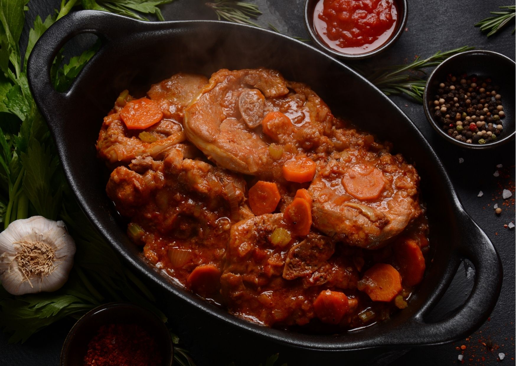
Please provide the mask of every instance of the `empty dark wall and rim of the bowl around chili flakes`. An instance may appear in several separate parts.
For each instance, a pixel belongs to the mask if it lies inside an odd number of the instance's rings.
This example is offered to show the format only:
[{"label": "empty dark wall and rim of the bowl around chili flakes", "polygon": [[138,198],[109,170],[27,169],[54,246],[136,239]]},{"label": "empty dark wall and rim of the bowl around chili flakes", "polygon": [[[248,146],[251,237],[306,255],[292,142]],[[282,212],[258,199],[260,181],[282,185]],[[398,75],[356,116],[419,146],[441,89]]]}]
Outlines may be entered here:
[{"label": "empty dark wall and rim of the bowl around chili flakes", "polygon": [[153,312],[137,305],[110,303],[90,310],[72,327],[61,349],[60,366],[84,364],[88,343],[105,324],[137,324],[146,329],[158,342],[163,352],[163,366],[170,366],[173,360],[173,346],[170,332],[165,323]]}]

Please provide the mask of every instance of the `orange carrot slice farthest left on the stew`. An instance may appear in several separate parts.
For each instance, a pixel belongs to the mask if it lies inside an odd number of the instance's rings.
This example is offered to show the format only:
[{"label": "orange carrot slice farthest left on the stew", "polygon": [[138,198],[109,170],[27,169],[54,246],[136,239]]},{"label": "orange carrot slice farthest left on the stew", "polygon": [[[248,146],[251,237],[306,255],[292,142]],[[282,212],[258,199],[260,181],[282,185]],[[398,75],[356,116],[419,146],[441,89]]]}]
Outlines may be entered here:
[{"label": "orange carrot slice farthest left on the stew", "polygon": [[163,113],[157,101],[141,98],[127,102],[120,111],[120,118],[127,129],[143,130],[159,122]]}]

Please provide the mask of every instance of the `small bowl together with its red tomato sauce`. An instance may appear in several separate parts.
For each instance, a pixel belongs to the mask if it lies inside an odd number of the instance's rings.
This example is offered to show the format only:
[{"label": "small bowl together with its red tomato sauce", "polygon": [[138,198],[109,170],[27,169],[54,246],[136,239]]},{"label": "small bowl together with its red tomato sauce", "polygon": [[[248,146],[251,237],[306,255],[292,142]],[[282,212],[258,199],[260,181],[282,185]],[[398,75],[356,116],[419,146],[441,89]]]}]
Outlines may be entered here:
[{"label": "small bowl together with its red tomato sauce", "polygon": [[388,49],[407,23],[407,0],[307,0],[304,22],[312,40],[342,59]]}]

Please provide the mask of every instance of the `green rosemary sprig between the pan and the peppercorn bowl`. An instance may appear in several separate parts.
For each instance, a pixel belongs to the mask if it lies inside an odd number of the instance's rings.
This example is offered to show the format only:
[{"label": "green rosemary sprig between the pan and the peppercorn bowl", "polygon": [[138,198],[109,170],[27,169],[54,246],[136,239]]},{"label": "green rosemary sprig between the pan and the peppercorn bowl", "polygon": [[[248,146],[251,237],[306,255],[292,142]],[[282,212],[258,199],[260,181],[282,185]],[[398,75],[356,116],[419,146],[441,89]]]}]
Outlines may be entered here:
[{"label": "green rosemary sprig between the pan and the peppercorn bowl", "polygon": [[425,90],[426,81],[421,76],[414,75],[414,73],[425,74],[424,69],[438,66],[450,56],[473,49],[474,47],[463,46],[445,52],[438,51],[425,59],[417,56],[408,65],[383,66],[371,71],[359,68],[356,68],[356,70],[387,96],[405,94],[416,102],[423,103],[423,91]]}]

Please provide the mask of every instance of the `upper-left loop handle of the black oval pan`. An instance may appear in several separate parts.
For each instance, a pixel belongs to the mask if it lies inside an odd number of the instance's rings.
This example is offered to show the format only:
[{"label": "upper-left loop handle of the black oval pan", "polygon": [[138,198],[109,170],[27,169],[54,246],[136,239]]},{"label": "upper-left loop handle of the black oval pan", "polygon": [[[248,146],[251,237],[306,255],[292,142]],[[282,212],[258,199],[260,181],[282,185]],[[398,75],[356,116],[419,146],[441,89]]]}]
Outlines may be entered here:
[{"label": "upper-left loop handle of the black oval pan", "polygon": [[30,90],[43,115],[49,115],[45,112],[50,108],[59,108],[70,95],[69,91],[56,91],[50,77],[52,63],[67,41],[78,34],[94,34],[101,40],[97,52],[100,54],[117,35],[126,33],[128,29],[136,33],[141,23],[105,11],[81,10],[66,15],[47,29],[36,42],[27,64]]}]

